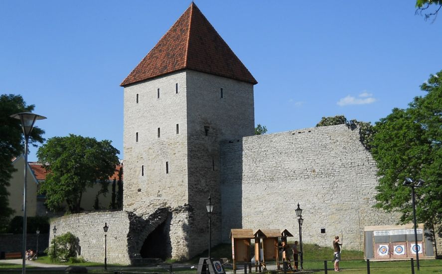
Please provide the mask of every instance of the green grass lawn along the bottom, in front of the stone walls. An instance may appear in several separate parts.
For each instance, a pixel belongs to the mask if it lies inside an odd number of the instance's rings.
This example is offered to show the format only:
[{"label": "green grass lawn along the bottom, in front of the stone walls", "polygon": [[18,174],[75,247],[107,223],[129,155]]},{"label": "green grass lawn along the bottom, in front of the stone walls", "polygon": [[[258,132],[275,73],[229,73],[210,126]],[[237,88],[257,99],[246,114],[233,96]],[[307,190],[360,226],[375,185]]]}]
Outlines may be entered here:
[{"label": "green grass lawn along the bottom, in front of the stone walls", "polygon": [[[232,262],[232,247],[230,244],[221,244],[214,247],[211,250],[211,255],[213,258],[227,258]],[[116,265],[116,264],[108,264],[108,271],[104,270],[104,264],[102,263],[52,263],[48,257],[39,257],[37,262],[43,264],[51,264],[51,265],[73,265],[73,266],[85,266],[85,267],[94,267],[93,269],[89,269],[89,273],[114,273],[116,271],[122,272],[155,272],[155,273],[167,273],[169,264],[186,264],[186,266],[177,268],[176,265],[173,268],[174,273],[180,274],[195,274],[197,264],[200,257],[207,257],[207,251],[203,252],[194,258],[187,261],[175,261],[175,260],[167,260],[162,264],[162,267],[159,268],[146,268],[146,267],[137,267],[128,269],[127,266]],[[324,273],[324,260],[327,261],[327,268],[329,272],[333,272],[333,251],[331,248],[319,247],[317,245],[304,244],[303,245],[303,267],[304,270],[309,270],[309,273]],[[355,273],[355,274],[363,274],[367,273],[367,262],[364,261],[363,252],[360,251],[350,251],[343,250],[341,255],[342,261],[339,264],[339,267],[342,269],[342,272],[345,273]],[[274,263],[269,262],[269,265]],[[195,268],[190,269],[190,266],[193,265]],[[242,265],[242,264],[238,264]],[[417,272],[416,269],[416,261],[415,261],[415,272],[416,274],[442,274],[442,260],[421,260],[420,261],[421,270]],[[29,267],[29,266],[28,266]],[[10,265],[10,264],[2,264],[0,263],[0,273],[3,273],[3,270],[16,270],[17,273],[21,270],[21,265]],[[231,271],[231,267],[227,267],[226,271]],[[255,268],[253,267],[254,271]],[[9,272],[9,271],[8,271]],[[40,268],[29,269],[29,273],[42,273]],[[45,270],[44,273],[56,274],[63,272],[54,272]],[[243,274],[243,270],[238,270],[238,274]],[[393,262],[370,262],[370,273],[371,274],[408,274],[411,273],[411,263],[410,261],[393,261]],[[270,274],[270,272],[268,273]]]}]

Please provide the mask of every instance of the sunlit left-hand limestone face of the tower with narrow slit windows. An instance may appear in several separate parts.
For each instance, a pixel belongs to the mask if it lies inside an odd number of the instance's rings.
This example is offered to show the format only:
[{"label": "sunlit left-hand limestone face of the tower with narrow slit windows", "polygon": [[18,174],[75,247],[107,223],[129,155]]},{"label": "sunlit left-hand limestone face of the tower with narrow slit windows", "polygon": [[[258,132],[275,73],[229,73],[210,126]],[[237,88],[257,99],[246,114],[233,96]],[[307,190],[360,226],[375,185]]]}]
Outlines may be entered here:
[{"label": "sunlit left-hand limestone face of the tower with narrow slit windows", "polygon": [[187,203],[185,71],[125,87],[123,141],[124,210]]}]

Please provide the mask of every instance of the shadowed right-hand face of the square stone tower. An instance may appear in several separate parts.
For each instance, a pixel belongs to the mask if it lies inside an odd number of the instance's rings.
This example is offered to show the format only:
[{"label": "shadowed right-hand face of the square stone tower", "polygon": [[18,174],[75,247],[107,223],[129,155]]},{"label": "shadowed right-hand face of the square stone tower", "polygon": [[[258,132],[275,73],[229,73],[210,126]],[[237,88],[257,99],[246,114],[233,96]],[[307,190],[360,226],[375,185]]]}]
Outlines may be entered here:
[{"label": "shadowed right-hand face of the square stone tower", "polygon": [[188,193],[193,222],[189,253],[208,248],[207,197],[211,194],[212,245],[221,241],[219,143],[254,134],[253,85],[197,71],[187,71]]}]

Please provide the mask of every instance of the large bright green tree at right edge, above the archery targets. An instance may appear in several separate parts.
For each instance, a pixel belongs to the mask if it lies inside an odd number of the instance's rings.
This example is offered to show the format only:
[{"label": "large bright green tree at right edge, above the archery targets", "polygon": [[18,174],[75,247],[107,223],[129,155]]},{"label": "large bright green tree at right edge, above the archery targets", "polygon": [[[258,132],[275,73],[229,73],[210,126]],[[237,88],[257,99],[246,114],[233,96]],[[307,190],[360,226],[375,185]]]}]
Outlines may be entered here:
[{"label": "large bright green tree at right edge, above the archery targets", "polygon": [[393,109],[374,127],[372,154],[380,176],[376,207],[400,212],[402,223],[411,222],[411,189],[402,183],[405,177],[423,179],[426,186],[416,188],[417,219],[434,228],[442,223],[442,71],[421,89],[425,96],[415,97],[407,109]]}]

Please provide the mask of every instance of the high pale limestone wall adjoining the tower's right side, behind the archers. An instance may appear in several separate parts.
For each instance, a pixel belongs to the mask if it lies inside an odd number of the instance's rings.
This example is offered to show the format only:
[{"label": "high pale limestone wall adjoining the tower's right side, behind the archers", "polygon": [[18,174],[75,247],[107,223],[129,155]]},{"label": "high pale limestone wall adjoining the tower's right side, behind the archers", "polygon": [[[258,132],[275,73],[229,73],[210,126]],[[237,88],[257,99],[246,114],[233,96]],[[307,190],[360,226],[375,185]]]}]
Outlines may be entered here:
[{"label": "high pale limestone wall adjoining the tower's right side, behind the archers", "polygon": [[[302,240],[362,250],[363,229],[390,225],[397,215],[375,210],[376,163],[358,129],[315,127],[244,137],[221,145],[222,239],[231,228],[288,229],[303,209]],[[325,233],[321,233],[325,229]]]}]

